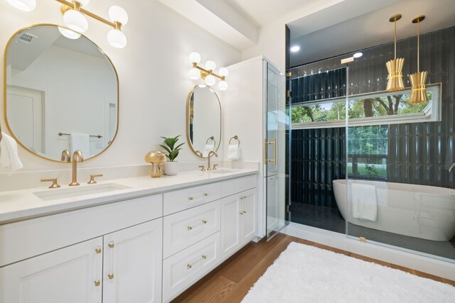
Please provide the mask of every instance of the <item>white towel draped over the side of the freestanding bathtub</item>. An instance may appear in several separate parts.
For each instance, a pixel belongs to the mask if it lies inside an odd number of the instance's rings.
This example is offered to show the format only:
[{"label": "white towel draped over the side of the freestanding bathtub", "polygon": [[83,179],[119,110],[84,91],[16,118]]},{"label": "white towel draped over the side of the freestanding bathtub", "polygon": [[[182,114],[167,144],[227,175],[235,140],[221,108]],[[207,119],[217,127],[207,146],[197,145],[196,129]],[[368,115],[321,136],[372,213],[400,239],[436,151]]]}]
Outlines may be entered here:
[{"label": "white towel draped over the side of the freestanding bathtub", "polygon": [[378,199],[376,187],[369,184],[350,184],[353,217],[376,221],[378,219]]}]

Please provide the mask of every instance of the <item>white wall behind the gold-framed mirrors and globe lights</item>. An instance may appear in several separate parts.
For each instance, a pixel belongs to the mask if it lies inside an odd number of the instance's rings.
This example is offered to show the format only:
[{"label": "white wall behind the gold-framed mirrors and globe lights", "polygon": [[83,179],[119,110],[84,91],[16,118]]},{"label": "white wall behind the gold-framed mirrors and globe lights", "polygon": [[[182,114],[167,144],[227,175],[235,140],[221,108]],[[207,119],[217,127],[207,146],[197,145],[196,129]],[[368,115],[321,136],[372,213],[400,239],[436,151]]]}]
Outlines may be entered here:
[{"label": "white wall behind the gold-framed mirrors and globe lights", "polygon": [[[35,11],[23,12],[0,1],[0,49],[23,27],[35,23],[63,24],[58,2],[37,2]],[[160,136],[181,134],[185,140],[186,97],[198,83],[188,77],[191,68],[188,54],[198,51],[203,62],[215,60],[218,66],[231,65],[241,58],[239,51],[157,0],[97,0],[91,1],[86,9],[107,18],[107,10],[114,4],[124,7],[129,14],[129,23],[122,28],[128,38],[127,47],[112,48],[106,39],[109,27],[92,18],[88,19],[86,35],[111,58],[119,74],[119,132],[105,153],[81,163],[80,167],[141,165],[144,155],[161,143]],[[3,60],[0,66],[3,70]],[[3,73],[0,78],[3,83]],[[0,96],[3,104],[3,85]],[[6,131],[3,108],[0,106],[0,123]],[[198,160],[187,145],[183,147],[179,161]],[[19,149],[19,155],[24,165],[22,172],[69,167],[38,158],[23,148]],[[7,176],[0,175],[0,182],[4,178]]]}]

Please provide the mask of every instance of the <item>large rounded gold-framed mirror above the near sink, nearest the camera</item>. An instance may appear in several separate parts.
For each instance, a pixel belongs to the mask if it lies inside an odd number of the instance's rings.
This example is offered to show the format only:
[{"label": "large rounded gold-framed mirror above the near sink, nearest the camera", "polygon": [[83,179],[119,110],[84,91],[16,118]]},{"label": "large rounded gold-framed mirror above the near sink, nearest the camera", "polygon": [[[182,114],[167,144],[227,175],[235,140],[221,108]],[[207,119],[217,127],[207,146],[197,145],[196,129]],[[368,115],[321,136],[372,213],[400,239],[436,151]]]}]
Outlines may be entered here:
[{"label": "large rounded gold-framed mirror above the near sink, nearest the camera", "polygon": [[5,119],[31,153],[60,161],[63,150],[81,150],[87,160],[117,134],[117,72],[95,43],[62,29],[31,26],[9,40]]}]

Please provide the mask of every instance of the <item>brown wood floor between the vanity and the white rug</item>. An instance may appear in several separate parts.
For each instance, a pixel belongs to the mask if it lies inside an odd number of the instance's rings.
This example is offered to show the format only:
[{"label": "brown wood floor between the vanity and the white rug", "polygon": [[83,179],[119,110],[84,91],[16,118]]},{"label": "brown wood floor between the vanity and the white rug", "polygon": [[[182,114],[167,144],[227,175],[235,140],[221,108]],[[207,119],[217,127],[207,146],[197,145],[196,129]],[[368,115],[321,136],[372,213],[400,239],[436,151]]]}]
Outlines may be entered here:
[{"label": "brown wood floor between the vanity and the white rug", "polygon": [[183,292],[174,299],[173,302],[241,302],[252,285],[255,284],[259,277],[267,270],[269,265],[272,265],[273,261],[278,258],[279,254],[282,253],[291,242],[304,243],[318,248],[332,250],[336,253],[349,255],[353,258],[378,263],[390,268],[410,272],[419,277],[427,277],[455,286],[455,281],[447,280],[442,277],[429,275],[410,268],[404,268],[399,265],[390,264],[363,255],[349,253],[345,250],[323,246],[319,243],[279,233],[269,242],[262,240],[259,241],[259,243],[248,244],[223,264],[219,265],[218,268],[215,268],[215,270],[196,282],[195,285]]}]

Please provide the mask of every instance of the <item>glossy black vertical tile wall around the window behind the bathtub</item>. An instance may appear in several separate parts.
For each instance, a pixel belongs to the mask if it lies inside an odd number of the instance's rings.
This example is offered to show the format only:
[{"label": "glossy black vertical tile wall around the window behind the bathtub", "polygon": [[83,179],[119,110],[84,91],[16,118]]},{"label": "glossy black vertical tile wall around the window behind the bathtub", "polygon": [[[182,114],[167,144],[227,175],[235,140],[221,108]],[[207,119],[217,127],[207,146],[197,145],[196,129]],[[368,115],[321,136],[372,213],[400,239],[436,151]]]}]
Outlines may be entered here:
[{"label": "glossy black vertical tile wall around the window behind the bathtub", "polygon": [[[384,90],[393,43],[360,51],[363,57],[348,64],[348,94]],[[339,71],[344,57],[291,69],[291,102],[343,96],[339,85],[346,73]],[[408,75],[417,72],[417,37],[398,41],[397,57],[405,57],[403,75],[409,87]],[[421,35],[420,70],[428,71],[427,84],[442,84],[442,119],[388,126],[387,181],[455,188],[455,174],[447,171],[455,162],[455,27]],[[312,73],[314,77],[303,77]],[[345,144],[345,128],[292,130],[292,202],[336,207],[331,181],[345,177]]]}]

